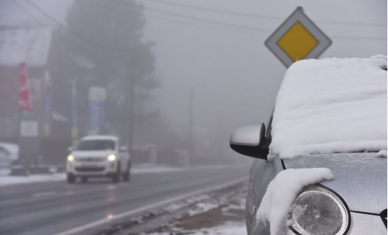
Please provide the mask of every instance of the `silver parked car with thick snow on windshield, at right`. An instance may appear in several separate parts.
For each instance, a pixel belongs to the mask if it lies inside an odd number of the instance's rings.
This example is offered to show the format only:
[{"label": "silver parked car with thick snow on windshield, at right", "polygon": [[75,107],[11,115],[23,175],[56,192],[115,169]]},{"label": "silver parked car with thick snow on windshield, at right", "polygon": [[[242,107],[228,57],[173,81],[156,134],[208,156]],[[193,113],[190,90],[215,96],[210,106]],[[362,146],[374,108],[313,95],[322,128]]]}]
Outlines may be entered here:
[{"label": "silver parked car with thick snow on windshield, at right", "polygon": [[248,234],[387,234],[387,57],[296,62],[267,127],[230,136]]}]

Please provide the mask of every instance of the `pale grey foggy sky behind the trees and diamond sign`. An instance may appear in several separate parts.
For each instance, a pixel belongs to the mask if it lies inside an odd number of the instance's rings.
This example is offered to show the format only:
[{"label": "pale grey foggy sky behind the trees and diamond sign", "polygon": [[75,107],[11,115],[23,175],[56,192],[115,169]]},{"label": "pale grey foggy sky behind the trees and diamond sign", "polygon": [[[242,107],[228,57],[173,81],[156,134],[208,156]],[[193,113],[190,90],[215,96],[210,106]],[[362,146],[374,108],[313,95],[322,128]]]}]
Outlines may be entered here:
[{"label": "pale grey foggy sky behind the trees and diamond sign", "polygon": [[[383,0],[169,1],[241,13],[272,15],[284,19],[296,6],[303,6],[305,14],[333,41],[321,58],[387,55],[386,40],[356,39],[387,37],[387,1]],[[34,0],[34,2],[64,22],[67,8],[72,1]],[[265,29],[249,31],[221,27],[145,9],[144,41],[155,43],[153,47],[156,57],[155,72],[161,80],[161,87],[154,92],[154,105],[160,108],[161,115],[169,120],[174,131],[187,134],[188,97],[192,87],[195,87],[194,133],[204,142],[220,136],[221,130],[221,143],[227,146],[229,135],[235,127],[249,122],[267,122],[286,68],[265,48],[264,41],[282,20],[208,13],[146,0],[141,2],[146,7],[172,13]],[[23,6],[28,8],[25,4]],[[31,8],[29,11],[39,22],[53,25],[53,22],[40,13],[34,12]],[[385,26],[324,24],[319,22],[320,20],[380,23]],[[0,16],[1,24],[23,24],[29,21],[31,21],[29,17],[17,8],[13,13]],[[351,40],[338,36],[355,38]],[[231,150],[228,153],[230,154]]]}]

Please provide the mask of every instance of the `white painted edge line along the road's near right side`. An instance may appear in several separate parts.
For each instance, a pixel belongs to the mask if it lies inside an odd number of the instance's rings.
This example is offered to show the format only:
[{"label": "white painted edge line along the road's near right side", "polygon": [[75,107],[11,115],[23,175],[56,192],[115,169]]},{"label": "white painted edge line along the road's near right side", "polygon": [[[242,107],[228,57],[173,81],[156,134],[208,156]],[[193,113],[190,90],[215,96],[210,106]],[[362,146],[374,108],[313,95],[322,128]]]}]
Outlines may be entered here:
[{"label": "white painted edge line along the road's near right side", "polygon": [[195,192],[190,192],[188,194],[183,194],[183,195],[180,195],[180,196],[177,196],[177,197],[173,197],[171,199],[165,199],[164,201],[158,201],[158,202],[156,202],[154,204],[150,204],[148,206],[143,206],[143,207],[131,210],[131,211],[125,211],[123,213],[118,213],[117,215],[112,215],[109,218],[104,218],[104,219],[101,219],[101,220],[96,220],[95,222],[90,222],[90,223],[88,223],[86,225],[81,225],[79,227],[75,227],[73,229],[69,229],[69,230],[67,230],[65,232],[60,232],[60,233],[54,234],[54,235],[72,235],[72,234],[77,234],[77,233],[83,232],[83,231],[85,231],[87,229],[91,229],[91,228],[97,227],[99,225],[107,224],[107,223],[112,222],[114,220],[125,218],[127,216],[134,215],[134,214],[137,214],[137,213],[140,213],[140,212],[143,212],[143,211],[148,211],[148,210],[153,209],[153,208],[158,208],[159,206],[163,206],[165,204],[170,204],[170,203],[173,203],[175,201],[181,201],[183,199],[186,199],[188,197],[193,197],[193,196],[198,195],[198,194],[205,194],[207,192],[221,190],[221,189],[226,188],[226,187],[237,185],[238,183],[242,183],[245,180],[248,180],[248,178],[247,177],[240,178],[240,179],[233,180],[233,181],[230,181],[228,183],[221,184],[221,185],[207,187],[207,188],[202,189],[202,190],[197,190]]}]

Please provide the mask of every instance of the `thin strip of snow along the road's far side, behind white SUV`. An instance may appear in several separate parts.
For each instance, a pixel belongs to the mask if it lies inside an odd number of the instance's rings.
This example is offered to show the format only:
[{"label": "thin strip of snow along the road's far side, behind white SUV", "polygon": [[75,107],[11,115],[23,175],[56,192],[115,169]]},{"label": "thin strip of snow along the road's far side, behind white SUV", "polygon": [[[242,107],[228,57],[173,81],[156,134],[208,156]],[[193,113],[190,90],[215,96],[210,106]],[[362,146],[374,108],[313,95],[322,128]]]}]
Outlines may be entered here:
[{"label": "thin strip of snow along the road's far side, behind white SUV", "polygon": [[[209,168],[228,168],[232,166],[193,166],[193,167],[174,167],[174,166],[154,166],[152,164],[139,164],[132,166],[131,173],[133,175],[144,173],[167,173],[176,171],[194,171],[197,169]],[[50,173],[50,174],[32,174],[29,176],[9,176],[10,170],[0,169],[0,187],[8,185],[22,185],[30,183],[43,183],[52,181],[66,180],[66,173]]]}]

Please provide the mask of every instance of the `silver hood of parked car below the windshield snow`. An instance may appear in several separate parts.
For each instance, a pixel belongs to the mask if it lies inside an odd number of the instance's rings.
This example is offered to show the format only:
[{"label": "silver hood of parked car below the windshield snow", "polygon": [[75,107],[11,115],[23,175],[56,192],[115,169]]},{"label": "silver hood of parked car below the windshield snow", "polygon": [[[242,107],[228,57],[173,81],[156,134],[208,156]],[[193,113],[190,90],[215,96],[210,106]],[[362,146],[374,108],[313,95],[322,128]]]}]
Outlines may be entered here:
[{"label": "silver hood of parked car below the windshield snow", "polygon": [[307,155],[284,159],[284,165],[331,169],[335,179],[321,184],[340,194],[350,211],[380,214],[387,208],[387,157],[375,152]]}]

